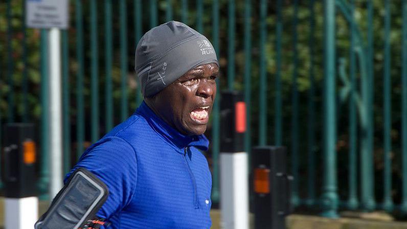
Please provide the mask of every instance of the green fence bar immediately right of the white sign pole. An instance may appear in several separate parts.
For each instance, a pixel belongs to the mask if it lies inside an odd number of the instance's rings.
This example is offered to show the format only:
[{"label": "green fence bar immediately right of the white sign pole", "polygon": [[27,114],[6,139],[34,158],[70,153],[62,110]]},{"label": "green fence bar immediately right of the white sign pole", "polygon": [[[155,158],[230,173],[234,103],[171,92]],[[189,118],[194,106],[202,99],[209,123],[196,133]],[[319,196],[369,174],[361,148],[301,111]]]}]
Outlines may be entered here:
[{"label": "green fence bar immediately right of the white sign pole", "polygon": [[62,118],[63,118],[63,171],[71,170],[71,119],[69,85],[69,43],[68,31],[63,30],[62,40]]}]

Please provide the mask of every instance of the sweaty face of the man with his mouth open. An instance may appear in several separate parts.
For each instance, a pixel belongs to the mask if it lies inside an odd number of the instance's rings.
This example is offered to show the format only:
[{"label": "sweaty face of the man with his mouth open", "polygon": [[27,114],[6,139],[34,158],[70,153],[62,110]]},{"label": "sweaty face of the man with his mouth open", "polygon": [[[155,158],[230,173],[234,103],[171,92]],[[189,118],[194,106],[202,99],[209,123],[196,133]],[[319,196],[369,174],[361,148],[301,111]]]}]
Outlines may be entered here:
[{"label": "sweaty face of the man with his mouth open", "polygon": [[219,68],[215,63],[199,65],[185,73],[147,104],[169,125],[186,135],[205,132],[216,96]]}]

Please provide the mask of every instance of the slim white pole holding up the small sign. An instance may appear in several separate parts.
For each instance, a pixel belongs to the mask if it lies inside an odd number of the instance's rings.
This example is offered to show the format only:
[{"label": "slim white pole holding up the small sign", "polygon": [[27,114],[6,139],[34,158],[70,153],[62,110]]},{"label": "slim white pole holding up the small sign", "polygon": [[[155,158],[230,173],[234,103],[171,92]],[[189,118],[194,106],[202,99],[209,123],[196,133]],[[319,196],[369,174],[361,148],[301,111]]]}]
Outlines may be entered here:
[{"label": "slim white pole holding up the small sign", "polygon": [[61,99],[61,47],[60,31],[49,33],[49,82],[50,82],[50,200],[63,186],[62,181],[62,99]]}]

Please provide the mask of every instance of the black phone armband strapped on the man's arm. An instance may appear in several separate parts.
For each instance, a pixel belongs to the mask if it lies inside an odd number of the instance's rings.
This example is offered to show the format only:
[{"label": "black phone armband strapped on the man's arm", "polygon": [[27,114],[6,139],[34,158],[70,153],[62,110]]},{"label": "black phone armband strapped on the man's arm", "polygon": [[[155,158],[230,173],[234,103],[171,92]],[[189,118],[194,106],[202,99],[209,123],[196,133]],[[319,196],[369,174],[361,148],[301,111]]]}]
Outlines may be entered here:
[{"label": "black phone armband strapped on the man's arm", "polygon": [[[89,220],[93,221],[92,219],[106,201],[108,193],[103,181],[90,171],[79,168],[71,174],[70,179],[52,201],[48,211],[35,223],[34,228],[80,228]],[[96,219],[94,224],[100,227],[101,222],[103,221]]]}]

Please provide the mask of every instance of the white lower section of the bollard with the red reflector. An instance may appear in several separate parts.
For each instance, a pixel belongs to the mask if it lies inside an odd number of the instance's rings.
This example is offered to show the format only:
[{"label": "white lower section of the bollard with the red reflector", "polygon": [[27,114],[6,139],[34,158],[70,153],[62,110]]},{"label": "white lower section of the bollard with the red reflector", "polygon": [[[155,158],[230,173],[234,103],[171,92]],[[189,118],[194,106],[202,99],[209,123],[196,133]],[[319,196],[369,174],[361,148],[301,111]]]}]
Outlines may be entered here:
[{"label": "white lower section of the bollard with the red reflector", "polygon": [[247,153],[220,153],[221,228],[248,229]]}]

